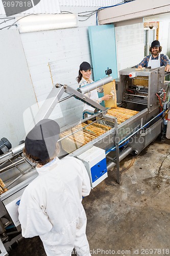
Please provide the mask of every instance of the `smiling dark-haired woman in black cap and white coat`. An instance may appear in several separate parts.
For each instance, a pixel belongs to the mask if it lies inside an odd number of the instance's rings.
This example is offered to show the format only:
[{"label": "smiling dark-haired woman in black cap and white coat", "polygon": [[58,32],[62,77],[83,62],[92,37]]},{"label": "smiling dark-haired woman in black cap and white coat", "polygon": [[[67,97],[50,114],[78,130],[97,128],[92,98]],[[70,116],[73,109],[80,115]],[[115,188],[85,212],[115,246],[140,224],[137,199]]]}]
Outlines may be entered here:
[{"label": "smiling dark-haired woman in black cap and white coat", "polygon": [[[92,68],[90,66],[90,63],[88,63],[87,61],[83,61],[80,64],[79,75],[76,78],[76,80],[79,83],[79,87],[85,86],[86,84],[93,82],[93,80],[90,78],[91,69]],[[109,100],[112,97],[112,95],[107,94],[107,95],[104,95],[103,97],[99,98],[98,92],[103,93],[103,87],[94,89],[91,92],[86,93],[85,95],[97,103],[101,103],[102,100]],[[88,104],[84,104],[83,111],[85,111],[85,110],[94,111],[94,108],[92,108],[92,106],[89,106]]]}]

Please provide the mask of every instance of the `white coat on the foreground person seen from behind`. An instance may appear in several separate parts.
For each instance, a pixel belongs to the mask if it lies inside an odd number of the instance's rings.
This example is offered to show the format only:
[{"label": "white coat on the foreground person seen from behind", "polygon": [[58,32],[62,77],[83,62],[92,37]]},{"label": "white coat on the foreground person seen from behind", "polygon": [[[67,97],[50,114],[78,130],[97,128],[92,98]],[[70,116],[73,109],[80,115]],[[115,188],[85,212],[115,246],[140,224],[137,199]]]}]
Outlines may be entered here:
[{"label": "white coat on the foreground person seen from behind", "polygon": [[74,158],[55,158],[37,168],[39,176],[23,192],[18,208],[22,236],[40,236],[47,255],[90,255],[82,196],[90,193],[84,164]]}]

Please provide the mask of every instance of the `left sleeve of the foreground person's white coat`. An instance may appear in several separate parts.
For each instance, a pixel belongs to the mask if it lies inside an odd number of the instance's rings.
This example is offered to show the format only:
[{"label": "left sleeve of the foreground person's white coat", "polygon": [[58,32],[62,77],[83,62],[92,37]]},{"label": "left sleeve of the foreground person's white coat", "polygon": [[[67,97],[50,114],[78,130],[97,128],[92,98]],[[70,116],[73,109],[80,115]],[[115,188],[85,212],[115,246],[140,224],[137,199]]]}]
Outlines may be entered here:
[{"label": "left sleeve of the foreground person's white coat", "polygon": [[38,205],[29,190],[24,191],[18,207],[19,221],[22,229],[22,237],[32,238],[45,234],[52,229],[47,214]]}]

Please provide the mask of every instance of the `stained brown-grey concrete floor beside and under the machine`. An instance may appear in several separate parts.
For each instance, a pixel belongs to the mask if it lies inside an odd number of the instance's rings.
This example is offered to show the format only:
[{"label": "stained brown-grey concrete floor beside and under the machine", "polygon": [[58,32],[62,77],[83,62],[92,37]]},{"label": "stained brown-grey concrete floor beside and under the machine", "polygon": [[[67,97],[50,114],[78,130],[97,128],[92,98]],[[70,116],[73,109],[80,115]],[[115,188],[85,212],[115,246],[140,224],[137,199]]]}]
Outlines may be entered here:
[{"label": "stained brown-grey concrete floor beside and under the machine", "polygon": [[[83,199],[92,255],[170,255],[169,160],[170,141],[156,140],[120,162],[120,185],[110,170]],[[23,239],[9,255],[46,254],[36,237]]]}]

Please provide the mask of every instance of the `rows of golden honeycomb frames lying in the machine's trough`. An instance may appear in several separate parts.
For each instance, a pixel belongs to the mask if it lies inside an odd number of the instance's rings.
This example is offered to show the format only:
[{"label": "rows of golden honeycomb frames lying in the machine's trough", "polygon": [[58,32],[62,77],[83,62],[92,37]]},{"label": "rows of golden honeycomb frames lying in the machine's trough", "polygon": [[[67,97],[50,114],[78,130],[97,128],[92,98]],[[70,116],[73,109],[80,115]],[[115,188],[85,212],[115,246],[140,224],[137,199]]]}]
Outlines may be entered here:
[{"label": "rows of golden honeycomb frames lying in the machine's trough", "polygon": [[[123,108],[116,108],[116,109],[110,109],[108,110],[108,115],[117,117],[117,122],[122,123],[125,120],[129,119],[130,117],[137,114],[138,111],[123,109]],[[60,134],[60,138],[63,138],[65,136],[68,136],[71,133],[74,133],[77,130],[80,130],[81,128],[85,127],[87,124],[89,124],[91,121],[87,121],[86,123],[80,123],[71,129],[68,129]],[[81,131],[78,131],[75,134],[70,135],[69,137],[63,139],[61,141],[62,148],[67,153],[71,153],[75,150],[77,150],[79,147],[87,144],[88,142],[92,141],[93,139],[101,136],[102,134],[106,133],[107,131],[111,130],[112,127],[103,125],[100,123],[93,123]]]}]

